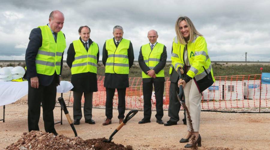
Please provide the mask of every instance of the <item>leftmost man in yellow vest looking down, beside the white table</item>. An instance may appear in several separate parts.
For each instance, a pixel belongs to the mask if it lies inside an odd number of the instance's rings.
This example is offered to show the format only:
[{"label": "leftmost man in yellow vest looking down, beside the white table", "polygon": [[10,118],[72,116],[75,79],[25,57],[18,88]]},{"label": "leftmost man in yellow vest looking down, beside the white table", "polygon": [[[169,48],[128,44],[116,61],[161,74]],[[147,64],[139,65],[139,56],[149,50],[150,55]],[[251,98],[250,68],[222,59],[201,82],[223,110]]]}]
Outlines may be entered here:
[{"label": "leftmost man in yellow vest looking down, beside the white table", "polygon": [[54,10],[49,24],[31,31],[26,49],[26,78],[28,80],[28,130],[39,130],[40,104],[43,108],[45,131],[57,135],[54,128],[56,86],[60,84],[66,40],[61,29],[64,14]]}]

